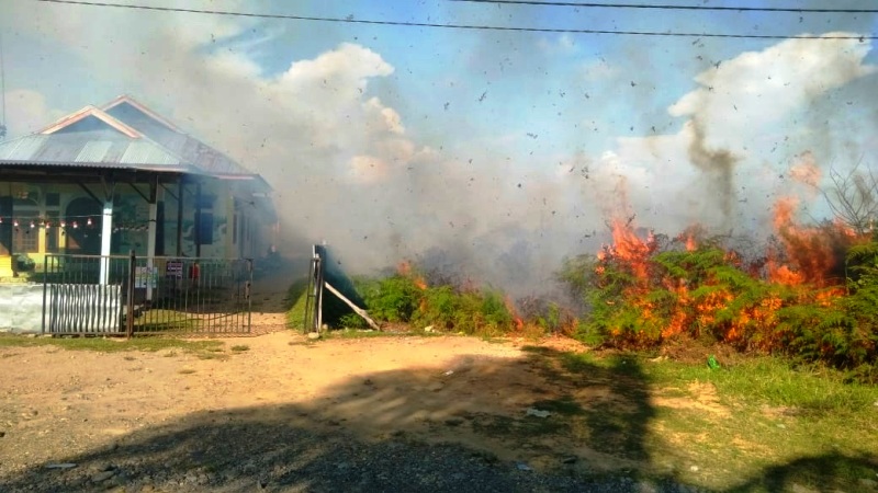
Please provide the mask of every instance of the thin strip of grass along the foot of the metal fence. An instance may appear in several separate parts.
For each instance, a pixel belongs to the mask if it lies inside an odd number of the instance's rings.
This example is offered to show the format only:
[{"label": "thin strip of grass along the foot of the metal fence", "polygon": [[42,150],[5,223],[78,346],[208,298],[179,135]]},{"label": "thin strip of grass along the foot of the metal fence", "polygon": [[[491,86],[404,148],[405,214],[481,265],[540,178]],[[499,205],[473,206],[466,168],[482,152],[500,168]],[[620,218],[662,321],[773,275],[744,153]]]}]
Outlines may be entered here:
[{"label": "thin strip of grass along the foot of the metal fence", "polygon": [[[222,341],[182,341],[168,337],[23,337],[21,335],[0,335],[0,347],[54,346],[67,351],[93,351],[98,353],[120,353],[143,351],[155,353],[171,349],[169,353],[182,351],[189,354],[205,355],[222,351]],[[166,355],[167,356],[167,355]],[[215,355],[214,355],[215,356]]]}]

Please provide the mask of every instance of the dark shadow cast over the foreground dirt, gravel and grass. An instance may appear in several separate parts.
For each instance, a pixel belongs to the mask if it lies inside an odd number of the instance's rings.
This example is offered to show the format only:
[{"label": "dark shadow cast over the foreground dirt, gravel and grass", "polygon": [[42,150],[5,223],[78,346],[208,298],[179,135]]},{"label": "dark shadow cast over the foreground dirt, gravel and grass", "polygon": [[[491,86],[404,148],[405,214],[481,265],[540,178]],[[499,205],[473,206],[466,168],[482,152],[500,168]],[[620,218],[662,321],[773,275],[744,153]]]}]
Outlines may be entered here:
[{"label": "dark shadow cast over the foreground dirt, gravel and grass", "polygon": [[[674,474],[638,472],[651,460],[644,437],[655,413],[635,359],[595,365],[544,348],[527,354],[363,375],[303,404],[198,412],[53,462],[75,467],[40,465],[0,484],[10,492],[698,491]],[[800,459],[732,491],[784,491],[801,470],[832,475],[857,460]]]}]

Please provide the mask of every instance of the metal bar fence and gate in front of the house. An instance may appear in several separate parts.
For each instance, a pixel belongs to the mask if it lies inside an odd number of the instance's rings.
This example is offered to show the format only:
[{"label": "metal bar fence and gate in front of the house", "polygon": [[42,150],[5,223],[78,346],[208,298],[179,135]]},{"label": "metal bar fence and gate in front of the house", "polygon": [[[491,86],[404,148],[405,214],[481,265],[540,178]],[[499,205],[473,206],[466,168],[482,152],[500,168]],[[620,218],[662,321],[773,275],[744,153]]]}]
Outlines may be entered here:
[{"label": "metal bar fence and gate in front of the house", "polygon": [[247,333],[249,259],[46,255],[43,332]]}]

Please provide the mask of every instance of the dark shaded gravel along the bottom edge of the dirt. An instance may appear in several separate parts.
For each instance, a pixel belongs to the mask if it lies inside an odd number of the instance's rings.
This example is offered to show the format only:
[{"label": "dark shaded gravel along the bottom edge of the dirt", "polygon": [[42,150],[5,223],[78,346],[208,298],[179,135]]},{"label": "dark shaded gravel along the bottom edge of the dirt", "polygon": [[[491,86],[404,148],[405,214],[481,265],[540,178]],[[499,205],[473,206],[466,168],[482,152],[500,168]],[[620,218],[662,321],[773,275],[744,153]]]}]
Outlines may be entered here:
[{"label": "dark shaded gravel along the bottom edge of the dirt", "polygon": [[[7,492],[694,492],[629,477],[540,473],[453,444],[375,443],[245,416],[147,429],[55,469],[0,478]],[[75,466],[74,466],[75,465]]]}]

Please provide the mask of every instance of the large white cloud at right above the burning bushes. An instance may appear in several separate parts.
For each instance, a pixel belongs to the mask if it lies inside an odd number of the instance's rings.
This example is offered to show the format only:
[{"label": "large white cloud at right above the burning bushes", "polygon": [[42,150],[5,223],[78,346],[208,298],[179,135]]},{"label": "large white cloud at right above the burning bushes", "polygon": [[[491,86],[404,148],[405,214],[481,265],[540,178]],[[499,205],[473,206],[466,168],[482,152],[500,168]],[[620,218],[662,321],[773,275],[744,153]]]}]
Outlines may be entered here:
[{"label": "large white cloud at right above the burning bushes", "polygon": [[[851,35],[826,36],[840,34]],[[790,162],[818,145],[807,122],[832,117],[807,116],[814,101],[876,73],[865,62],[870,48],[857,39],[788,39],[711,67],[668,107],[686,118],[680,129],[618,139],[594,167],[592,193],[612,204],[624,183],[633,209],[653,213],[649,222],[668,232],[689,222],[724,230],[768,225],[770,204],[789,190]]]}]

